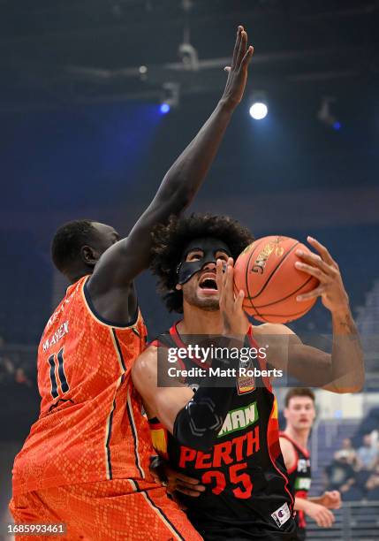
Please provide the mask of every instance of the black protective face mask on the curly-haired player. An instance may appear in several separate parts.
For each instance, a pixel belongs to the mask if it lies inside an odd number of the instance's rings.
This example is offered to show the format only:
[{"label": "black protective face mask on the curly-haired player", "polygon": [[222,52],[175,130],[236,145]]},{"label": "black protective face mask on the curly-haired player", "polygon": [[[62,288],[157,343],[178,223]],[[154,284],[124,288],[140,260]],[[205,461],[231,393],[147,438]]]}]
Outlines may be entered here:
[{"label": "black protective face mask on the curly-haired player", "polygon": [[[196,261],[186,261],[186,256],[190,252],[201,251],[200,259]],[[203,237],[201,239],[191,240],[186,246],[182,254],[181,261],[178,264],[178,284],[183,285],[193,277],[196,272],[199,272],[207,263],[216,264],[216,253],[225,252],[231,257],[231,250],[222,240],[214,239],[213,237]]]}]

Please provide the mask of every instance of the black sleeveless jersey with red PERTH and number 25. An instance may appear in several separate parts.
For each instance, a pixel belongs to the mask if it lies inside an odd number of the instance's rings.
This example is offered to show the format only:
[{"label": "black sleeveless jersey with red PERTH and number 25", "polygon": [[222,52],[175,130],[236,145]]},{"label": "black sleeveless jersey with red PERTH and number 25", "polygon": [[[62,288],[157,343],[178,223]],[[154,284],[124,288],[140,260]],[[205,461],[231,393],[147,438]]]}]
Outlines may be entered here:
[{"label": "black sleeveless jersey with red PERTH and number 25", "polygon": [[[252,328],[249,340],[251,347],[257,347]],[[159,343],[186,348],[176,325],[159,338]],[[183,363],[184,370],[198,364],[204,369],[204,363],[188,358]],[[257,369],[265,370],[262,360],[255,364]],[[196,498],[180,494],[197,528],[199,522],[207,521],[246,525],[258,521],[279,532],[285,522],[292,521],[293,498],[279,446],[277,400],[269,379],[257,379],[260,381],[239,378],[239,388],[236,385],[217,443],[206,453],[180,445],[158,419],[150,420],[155,450],[175,469],[206,486],[206,491]],[[196,377],[185,381],[194,389],[199,383]]]}]

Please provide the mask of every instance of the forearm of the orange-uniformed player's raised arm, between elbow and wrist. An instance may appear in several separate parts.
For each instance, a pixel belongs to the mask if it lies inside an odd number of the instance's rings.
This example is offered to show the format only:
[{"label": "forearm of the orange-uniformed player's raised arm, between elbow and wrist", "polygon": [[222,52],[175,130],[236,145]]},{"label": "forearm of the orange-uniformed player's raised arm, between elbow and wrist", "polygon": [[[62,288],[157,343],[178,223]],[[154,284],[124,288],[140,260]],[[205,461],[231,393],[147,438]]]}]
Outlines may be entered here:
[{"label": "forearm of the orange-uniformed player's raised arm, between elbow and wrist", "polygon": [[166,203],[168,215],[178,214],[192,202],[216,157],[234,107],[230,101],[221,99],[199,133],[167,171],[157,199]]}]

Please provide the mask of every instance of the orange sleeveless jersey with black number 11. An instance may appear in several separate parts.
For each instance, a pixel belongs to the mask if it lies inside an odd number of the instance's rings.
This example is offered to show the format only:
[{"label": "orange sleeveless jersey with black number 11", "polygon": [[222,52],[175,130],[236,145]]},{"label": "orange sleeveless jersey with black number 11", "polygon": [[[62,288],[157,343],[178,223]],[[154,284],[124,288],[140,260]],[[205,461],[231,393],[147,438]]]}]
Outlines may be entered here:
[{"label": "orange sleeveless jersey with black number 11", "polygon": [[43,331],[41,412],[14,462],[14,494],[106,479],[151,480],[148,423],[131,382],[146,328],[140,311],[127,327],[96,315],[87,278],[67,289]]}]

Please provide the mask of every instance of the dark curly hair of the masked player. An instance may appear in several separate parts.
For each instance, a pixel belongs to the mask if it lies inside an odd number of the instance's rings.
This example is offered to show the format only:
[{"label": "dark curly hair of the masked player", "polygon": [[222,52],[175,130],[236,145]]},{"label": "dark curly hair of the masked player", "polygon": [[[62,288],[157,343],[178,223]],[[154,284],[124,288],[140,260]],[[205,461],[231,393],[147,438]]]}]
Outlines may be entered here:
[{"label": "dark curly hair of the masked player", "polygon": [[174,217],[168,225],[156,225],[152,234],[152,261],[150,269],[158,277],[158,291],[172,312],[183,312],[183,293],[175,289],[177,268],[186,244],[201,237],[223,240],[230,248],[234,260],[251,244],[254,236],[237,220],[215,214],[191,214]]}]

